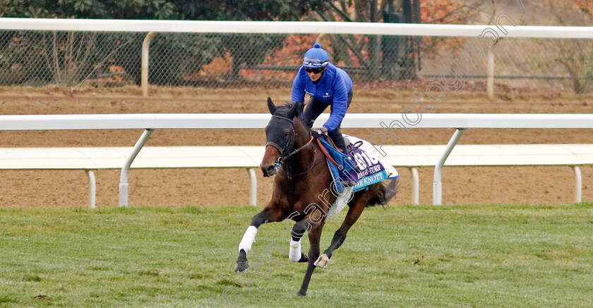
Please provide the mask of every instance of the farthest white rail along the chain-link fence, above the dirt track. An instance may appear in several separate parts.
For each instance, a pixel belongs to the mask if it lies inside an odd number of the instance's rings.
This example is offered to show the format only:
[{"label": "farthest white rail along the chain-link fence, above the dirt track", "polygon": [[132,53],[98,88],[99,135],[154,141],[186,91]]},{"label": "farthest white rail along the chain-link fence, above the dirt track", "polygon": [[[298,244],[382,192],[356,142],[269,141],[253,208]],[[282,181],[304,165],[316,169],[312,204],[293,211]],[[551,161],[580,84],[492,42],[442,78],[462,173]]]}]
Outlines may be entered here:
[{"label": "farthest white rail along the chain-link fence, above the dirt track", "polygon": [[[520,16],[515,16],[520,18]],[[520,19],[517,19],[520,20]],[[527,23],[529,20],[525,20]],[[498,25],[496,25],[498,27]],[[157,33],[236,33],[236,34],[336,34],[336,35],[402,35],[422,37],[481,37],[476,43],[488,50],[487,88],[493,95],[494,58],[491,49],[498,45],[495,25],[432,25],[407,23],[344,23],[297,21],[212,21],[212,20],[92,20],[52,18],[0,18],[0,30],[147,32],[141,56],[141,87],[148,95],[149,46]],[[504,37],[538,39],[593,39],[590,27],[504,25]],[[496,37],[495,37],[496,35]],[[484,42],[484,37],[492,42]],[[500,35],[502,37],[502,35]],[[473,45],[473,44],[472,44]],[[469,45],[468,47],[471,47]],[[471,50],[460,50],[452,58]],[[495,52],[496,53],[496,52]],[[472,56],[473,57],[473,56]],[[472,59],[472,61],[474,61]],[[445,67],[443,67],[445,69]]]}]

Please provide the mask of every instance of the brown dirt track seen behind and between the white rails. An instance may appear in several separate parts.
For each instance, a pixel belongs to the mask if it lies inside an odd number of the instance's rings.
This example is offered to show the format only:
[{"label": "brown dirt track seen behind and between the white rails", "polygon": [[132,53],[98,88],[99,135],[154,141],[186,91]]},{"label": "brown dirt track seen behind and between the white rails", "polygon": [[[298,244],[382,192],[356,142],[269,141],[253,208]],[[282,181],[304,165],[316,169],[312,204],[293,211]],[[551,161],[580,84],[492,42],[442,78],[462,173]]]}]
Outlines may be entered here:
[{"label": "brown dirt track seen behind and between the white rails", "polygon": [[[413,86],[390,83],[385,88],[355,88],[349,112],[402,112],[412,104]],[[421,88],[421,86],[417,87]],[[448,95],[432,112],[465,113],[590,113],[593,95],[571,95],[547,90],[526,93],[502,88],[488,100],[477,86]],[[69,89],[0,89],[0,114],[92,113],[221,113],[267,112],[265,97],[287,102],[288,90],[151,89],[140,97],[138,88],[74,92]],[[369,136],[368,129],[343,129],[353,136]],[[590,130],[475,129],[460,144],[480,143],[591,143]],[[1,147],[132,146],[141,131],[4,131]],[[453,129],[412,129],[400,144],[447,143]],[[161,130],[148,146],[263,146],[260,130]],[[393,204],[409,203],[409,170],[400,168],[401,192]],[[116,206],[119,170],[97,171],[97,206]],[[583,199],[593,200],[593,167],[582,167]],[[419,170],[420,202],[431,203],[433,168]],[[88,181],[83,171],[0,171],[0,207],[86,206]],[[272,182],[258,172],[258,203],[270,198]],[[570,203],[574,175],[570,167],[446,167],[444,203]],[[132,170],[132,206],[223,206],[248,203],[245,170]]]}]

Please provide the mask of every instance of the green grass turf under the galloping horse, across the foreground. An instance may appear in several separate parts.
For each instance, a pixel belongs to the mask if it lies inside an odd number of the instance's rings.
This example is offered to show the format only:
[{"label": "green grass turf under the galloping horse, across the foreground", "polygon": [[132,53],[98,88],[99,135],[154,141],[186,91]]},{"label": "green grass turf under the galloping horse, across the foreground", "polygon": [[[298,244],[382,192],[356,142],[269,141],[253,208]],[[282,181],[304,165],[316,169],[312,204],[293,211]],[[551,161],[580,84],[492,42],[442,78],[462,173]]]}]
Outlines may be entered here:
[{"label": "green grass turf under the galloping horse, across the foreground", "polygon": [[[234,282],[261,209],[0,210],[0,307],[230,307],[225,289],[236,307],[593,305],[591,203],[368,208],[307,297],[296,296],[304,264],[263,254],[288,252],[284,223],[259,229],[253,288]],[[322,249],[344,217],[325,225]],[[254,260],[268,260],[259,276]]]}]

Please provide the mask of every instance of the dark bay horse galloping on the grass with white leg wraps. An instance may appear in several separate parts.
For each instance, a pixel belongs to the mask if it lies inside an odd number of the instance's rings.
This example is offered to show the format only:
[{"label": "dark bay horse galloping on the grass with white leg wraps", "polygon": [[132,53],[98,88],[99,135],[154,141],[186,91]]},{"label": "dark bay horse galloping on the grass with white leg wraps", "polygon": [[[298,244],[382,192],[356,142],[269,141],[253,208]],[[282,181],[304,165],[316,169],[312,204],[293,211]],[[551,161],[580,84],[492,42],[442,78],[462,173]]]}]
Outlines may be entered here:
[{"label": "dark bay horse galloping on the grass with white leg wraps", "polygon": [[[302,104],[276,107],[268,97],[268,109],[272,119],[265,128],[265,154],[260,164],[264,177],[274,179],[272,199],[263,211],[251,219],[243,239],[239,243],[239,258],[234,271],[248,268],[247,253],[255,240],[258,227],[263,223],[280,222],[286,218],[296,223],[292,227],[289,259],[294,262],[309,262],[298,295],[306,295],[311,274],[316,267],[327,267],[335,249],[340,247],[350,227],[356,223],[366,206],[385,205],[396,194],[396,181],[388,185],[372,184],[368,189],[357,191],[348,202],[349,210],[340,229],[335,232],[328,249],[319,255],[321,230],[325,213],[337,196],[330,193],[333,179],[321,148],[314,141],[311,129],[300,119]],[[281,167],[277,167],[279,165]],[[301,237],[309,230],[309,255],[301,252]]]}]

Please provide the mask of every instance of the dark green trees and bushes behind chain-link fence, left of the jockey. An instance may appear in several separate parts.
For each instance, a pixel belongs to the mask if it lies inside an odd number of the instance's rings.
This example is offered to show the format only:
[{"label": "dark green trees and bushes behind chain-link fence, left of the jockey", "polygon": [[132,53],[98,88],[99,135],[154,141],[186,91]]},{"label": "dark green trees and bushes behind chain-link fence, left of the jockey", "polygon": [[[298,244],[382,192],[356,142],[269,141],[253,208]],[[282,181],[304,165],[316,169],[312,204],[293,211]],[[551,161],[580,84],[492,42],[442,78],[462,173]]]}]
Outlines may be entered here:
[{"label": "dark green trees and bushes behind chain-link fence, left of the jockey", "polygon": [[[188,0],[0,0],[1,17],[28,18],[109,18],[109,19],[184,19],[184,20],[298,20],[312,6],[323,1],[188,1]],[[41,35],[45,45],[37,45],[32,36]],[[49,36],[47,36],[49,35]],[[47,36],[47,37],[45,37]],[[23,40],[22,37],[27,37]],[[222,37],[222,38],[220,38]],[[216,55],[230,52],[233,59],[230,74],[238,76],[240,64],[259,64],[265,56],[282,45],[282,40],[258,36],[229,39],[227,35],[167,35],[157,36],[151,46],[150,83],[179,84],[183,69],[190,64],[207,64]],[[236,37],[236,36],[235,36]],[[97,64],[121,66],[140,81],[142,34],[80,32],[31,33],[11,32],[0,39],[4,67],[18,67],[23,79],[28,73],[40,75],[50,71],[56,83],[70,84],[82,76],[97,73]],[[20,42],[18,45],[13,42]],[[30,44],[27,44],[30,43]],[[104,52],[90,52],[102,46]],[[106,46],[110,46],[107,48]],[[205,47],[197,50],[195,47]],[[85,51],[88,51],[85,53]],[[82,54],[80,54],[82,52]],[[26,54],[26,57],[23,57]],[[38,54],[46,54],[46,61],[31,61]],[[74,57],[76,54],[80,57]],[[248,56],[246,56],[248,55]],[[18,56],[18,57],[17,57]],[[51,57],[50,57],[51,56]],[[6,60],[8,59],[8,60]],[[20,59],[20,63],[9,63]],[[3,64],[0,62],[0,64]]]}]

